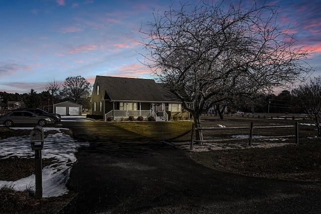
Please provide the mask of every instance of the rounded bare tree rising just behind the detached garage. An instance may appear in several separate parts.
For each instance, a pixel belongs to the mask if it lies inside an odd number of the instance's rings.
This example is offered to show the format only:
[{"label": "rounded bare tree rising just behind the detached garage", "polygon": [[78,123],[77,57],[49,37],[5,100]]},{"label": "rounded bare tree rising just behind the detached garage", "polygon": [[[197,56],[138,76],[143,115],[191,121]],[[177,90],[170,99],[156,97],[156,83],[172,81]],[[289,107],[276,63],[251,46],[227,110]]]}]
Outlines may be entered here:
[{"label": "rounded bare tree rising just behind the detached garage", "polygon": [[83,77],[68,77],[63,83],[63,96],[75,103],[85,101],[90,95],[90,83]]}]

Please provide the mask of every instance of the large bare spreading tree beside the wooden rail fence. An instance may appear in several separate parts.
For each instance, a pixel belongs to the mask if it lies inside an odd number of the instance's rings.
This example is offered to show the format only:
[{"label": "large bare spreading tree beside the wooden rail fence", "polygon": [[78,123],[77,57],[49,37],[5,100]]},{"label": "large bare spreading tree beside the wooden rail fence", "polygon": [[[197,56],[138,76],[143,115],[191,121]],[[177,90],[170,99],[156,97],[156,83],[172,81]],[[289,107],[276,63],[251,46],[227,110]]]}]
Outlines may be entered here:
[{"label": "large bare spreading tree beside the wooden rail fence", "polygon": [[140,30],[143,64],[184,102],[196,127],[211,106],[271,91],[310,70],[304,61],[310,53],[294,46],[289,29],[280,29],[277,7],[243,9],[224,1],[171,6],[163,16],[154,14],[149,28]]}]

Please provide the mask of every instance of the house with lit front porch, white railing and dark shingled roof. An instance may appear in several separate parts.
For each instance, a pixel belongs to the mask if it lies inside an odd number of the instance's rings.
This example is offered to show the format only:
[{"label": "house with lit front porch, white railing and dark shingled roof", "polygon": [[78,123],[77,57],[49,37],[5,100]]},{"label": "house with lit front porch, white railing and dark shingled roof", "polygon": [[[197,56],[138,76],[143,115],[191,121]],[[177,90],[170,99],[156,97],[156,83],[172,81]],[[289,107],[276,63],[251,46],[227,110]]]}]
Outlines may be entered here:
[{"label": "house with lit front porch, white railing and dark shingled roof", "polygon": [[151,79],[96,76],[91,96],[92,114],[106,120],[133,116],[167,121],[166,111],[182,112],[182,102]]}]

